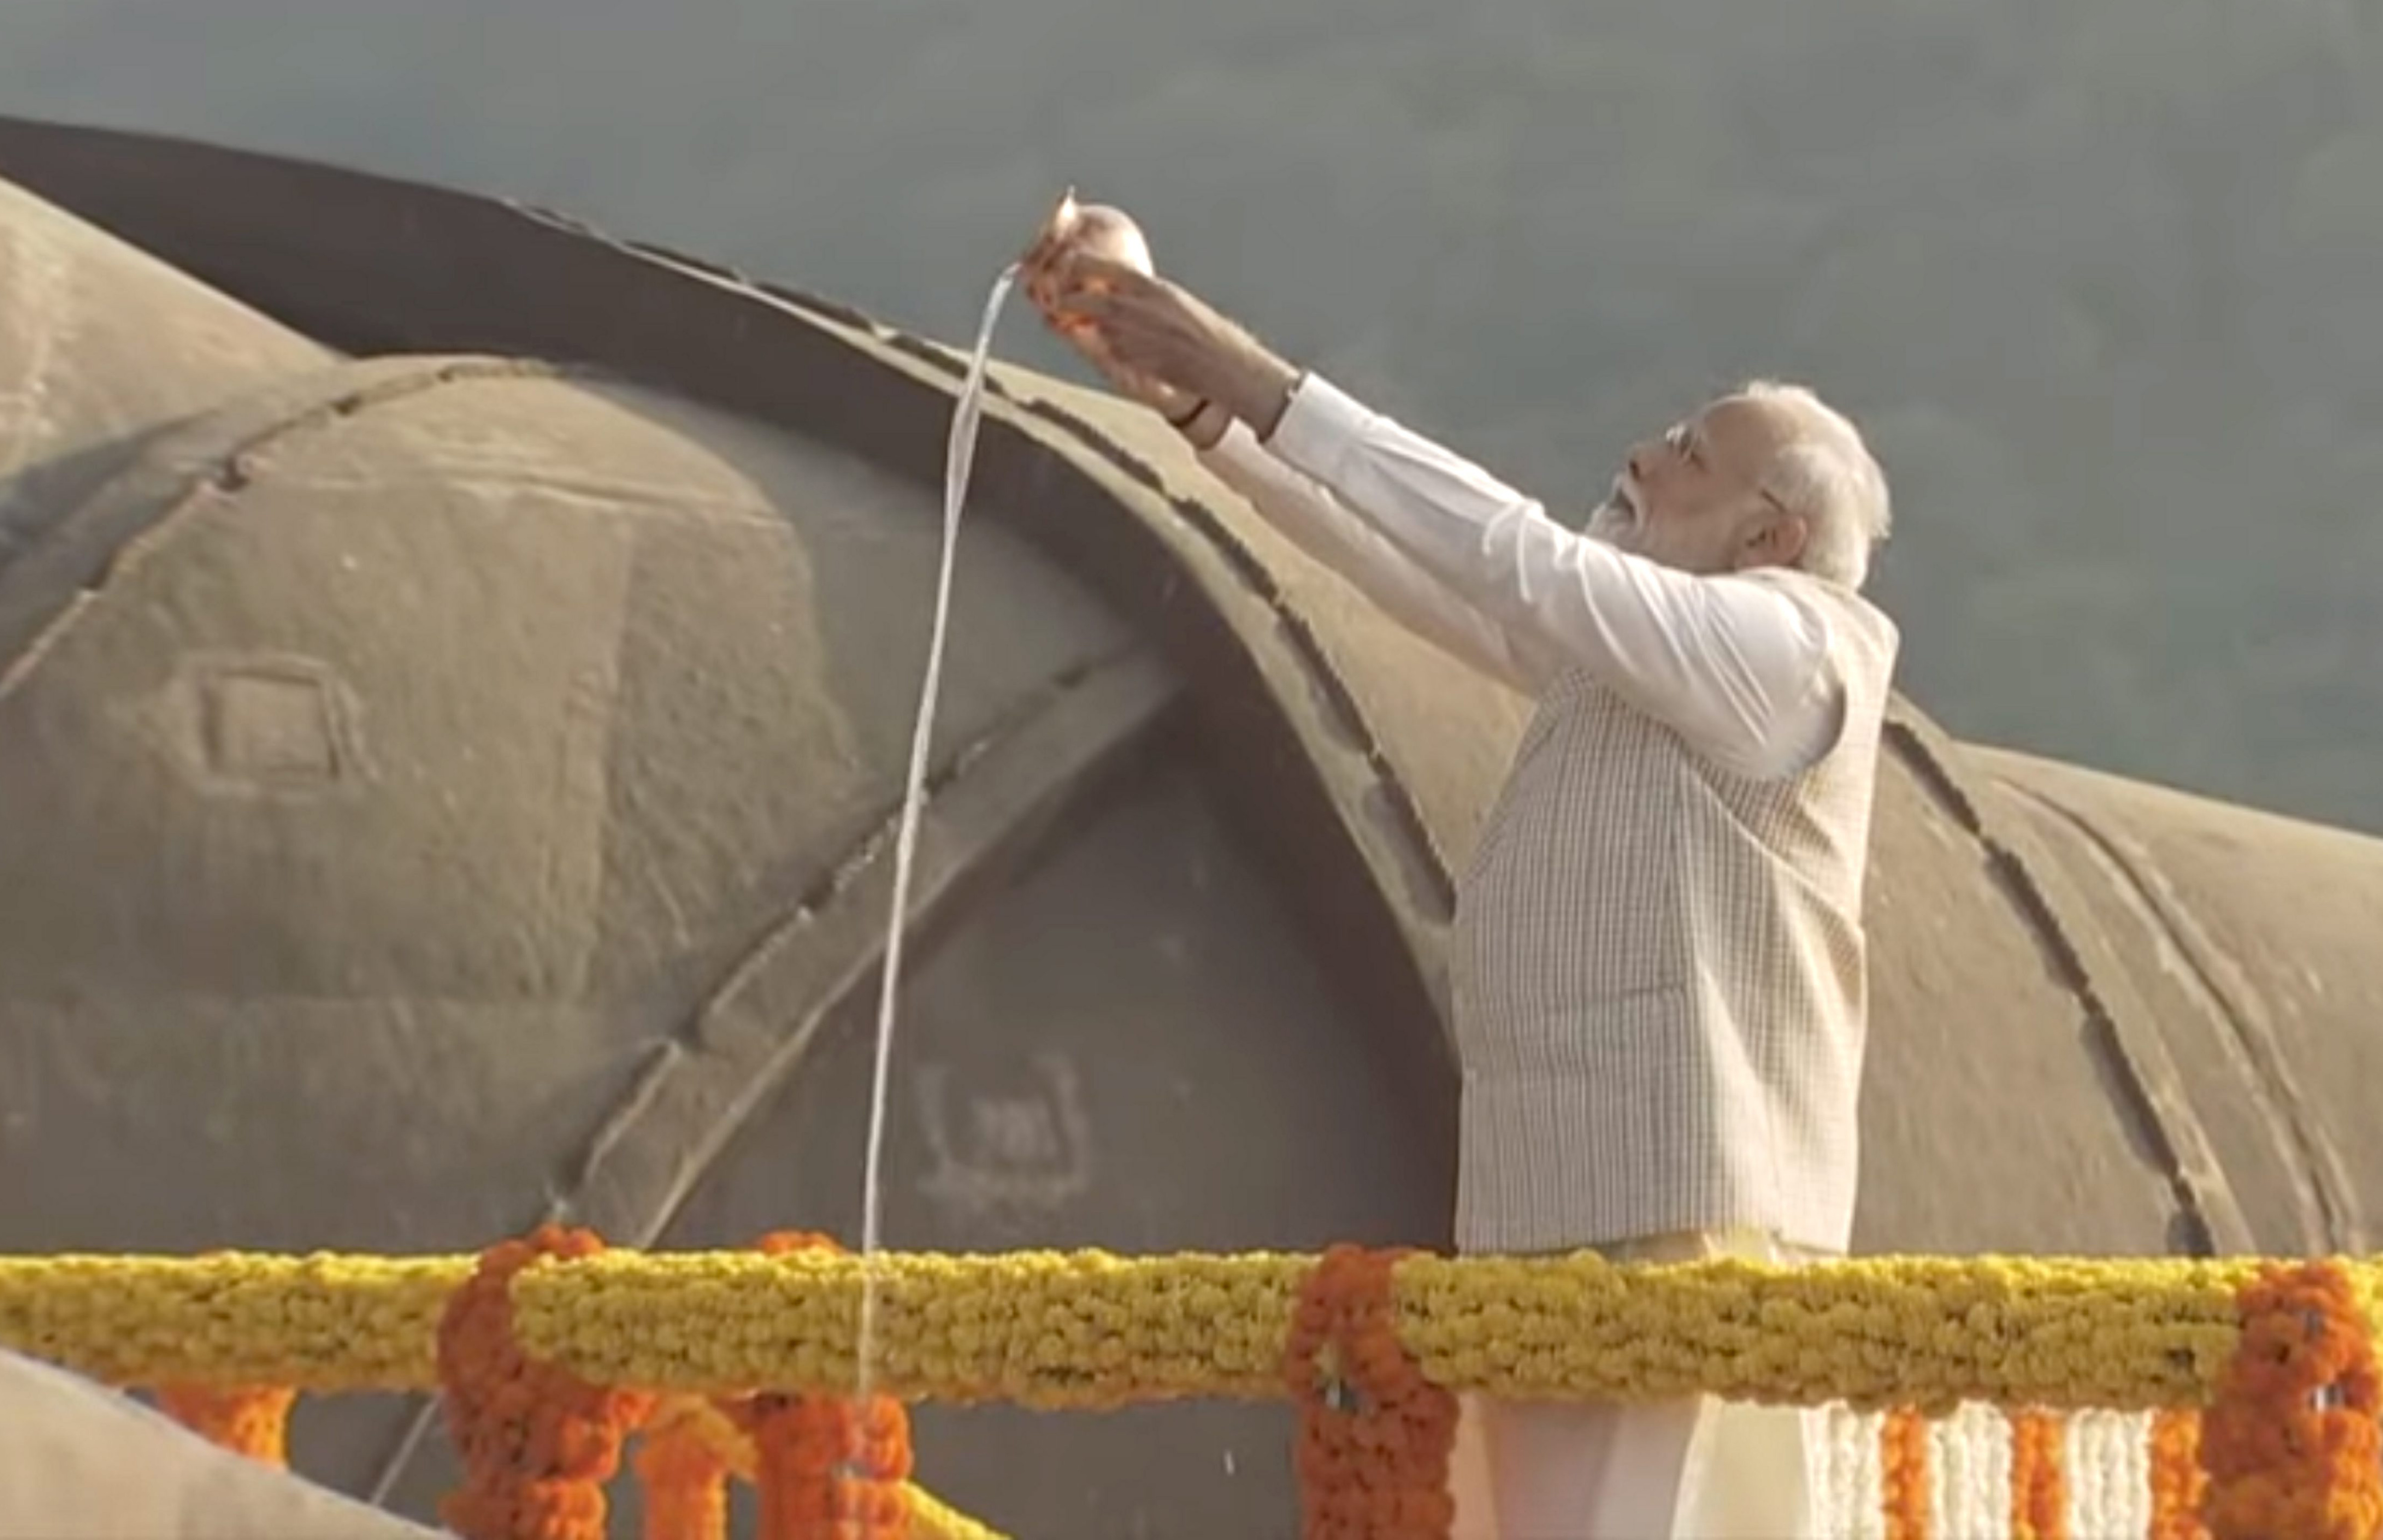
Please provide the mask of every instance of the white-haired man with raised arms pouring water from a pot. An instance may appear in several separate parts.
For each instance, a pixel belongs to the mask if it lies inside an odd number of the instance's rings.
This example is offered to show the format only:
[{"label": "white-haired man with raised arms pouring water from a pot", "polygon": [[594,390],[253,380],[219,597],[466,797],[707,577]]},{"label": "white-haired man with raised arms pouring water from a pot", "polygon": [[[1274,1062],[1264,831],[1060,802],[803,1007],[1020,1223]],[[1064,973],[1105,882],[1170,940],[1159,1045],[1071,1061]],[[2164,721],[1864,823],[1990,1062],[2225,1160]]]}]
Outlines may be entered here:
[{"label": "white-haired man with raised arms pouring water from a pot", "polygon": [[[1797,386],[1730,391],[1632,448],[1575,534],[1177,284],[1065,243],[1027,269],[1053,327],[1263,517],[1537,701],[1458,887],[1458,1247],[1842,1254],[1897,656],[1861,596],[1887,484],[1854,424]],[[1470,1414],[1466,1528],[1818,1533],[1809,1414]]]}]

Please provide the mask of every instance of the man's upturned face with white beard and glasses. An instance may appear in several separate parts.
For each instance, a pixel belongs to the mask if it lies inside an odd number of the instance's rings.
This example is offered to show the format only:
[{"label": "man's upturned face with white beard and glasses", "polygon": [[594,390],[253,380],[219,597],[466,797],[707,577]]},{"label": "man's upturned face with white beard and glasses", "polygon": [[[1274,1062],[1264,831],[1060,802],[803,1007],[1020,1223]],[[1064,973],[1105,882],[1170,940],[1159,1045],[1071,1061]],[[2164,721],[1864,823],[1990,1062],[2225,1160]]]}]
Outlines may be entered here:
[{"label": "man's upturned face with white beard and glasses", "polygon": [[1761,489],[1797,434],[1787,408],[1723,396],[1630,451],[1587,532],[1682,572],[1737,572],[1802,555],[1804,529]]}]

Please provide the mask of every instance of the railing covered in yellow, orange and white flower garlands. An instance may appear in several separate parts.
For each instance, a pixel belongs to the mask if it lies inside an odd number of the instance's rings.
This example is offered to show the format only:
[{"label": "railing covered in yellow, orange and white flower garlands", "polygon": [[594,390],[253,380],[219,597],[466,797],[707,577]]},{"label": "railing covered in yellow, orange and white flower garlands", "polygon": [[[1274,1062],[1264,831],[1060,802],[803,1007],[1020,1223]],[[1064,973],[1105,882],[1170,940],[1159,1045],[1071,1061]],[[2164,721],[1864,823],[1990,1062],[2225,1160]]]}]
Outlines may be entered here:
[{"label": "railing covered in yellow, orange and white flower garlands", "polygon": [[[1446,1535],[1456,1392],[1830,1409],[1833,1533],[2369,1540],[2383,1533],[2383,1263],[1861,1259],[1616,1266],[1325,1256],[882,1256],[877,1402],[853,1407],[863,1263],[817,1237],[472,1259],[0,1259],[0,1342],[279,1457],[293,1395],[431,1390],[467,1540],[601,1535],[629,1440],[653,1540],[929,1540],[903,1402],[1299,1404],[1308,1535]],[[531,1433],[508,1418],[531,1409]],[[846,1528],[836,1528],[836,1523]],[[989,1533],[989,1530],[975,1530]]]}]

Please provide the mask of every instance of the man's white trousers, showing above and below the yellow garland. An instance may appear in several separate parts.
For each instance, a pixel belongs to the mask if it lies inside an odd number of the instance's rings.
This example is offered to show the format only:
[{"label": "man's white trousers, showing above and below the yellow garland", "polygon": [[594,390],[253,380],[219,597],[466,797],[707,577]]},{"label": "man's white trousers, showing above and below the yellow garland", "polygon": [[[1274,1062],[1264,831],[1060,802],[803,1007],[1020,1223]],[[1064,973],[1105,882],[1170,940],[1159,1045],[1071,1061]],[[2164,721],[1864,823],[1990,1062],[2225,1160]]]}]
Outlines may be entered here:
[{"label": "man's white trousers, showing above and below the yellow garland", "polygon": [[[1766,1235],[1666,1235],[1613,1261],[1802,1261]],[[1821,1535],[1821,1414],[1716,1397],[1649,1404],[1466,1397],[1456,1540],[1806,1540]]]}]

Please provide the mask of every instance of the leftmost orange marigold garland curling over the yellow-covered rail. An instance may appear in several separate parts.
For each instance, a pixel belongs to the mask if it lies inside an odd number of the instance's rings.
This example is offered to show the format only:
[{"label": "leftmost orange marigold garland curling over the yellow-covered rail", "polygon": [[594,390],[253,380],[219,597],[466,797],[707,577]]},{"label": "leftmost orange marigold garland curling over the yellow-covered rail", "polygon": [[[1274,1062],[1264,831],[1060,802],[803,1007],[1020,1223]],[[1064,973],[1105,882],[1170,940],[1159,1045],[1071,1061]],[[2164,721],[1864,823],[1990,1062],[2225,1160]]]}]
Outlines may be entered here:
[{"label": "leftmost orange marigold garland curling over the yellow-covered rail", "polygon": [[605,1390],[531,1359],[512,1333],[512,1280],[603,1252],[589,1230],[541,1225],[481,1254],[438,1323],[438,1378],[462,1485],[441,1519],[462,1540],[605,1540],[603,1483],[653,1397]]}]

